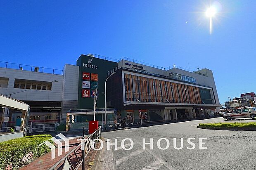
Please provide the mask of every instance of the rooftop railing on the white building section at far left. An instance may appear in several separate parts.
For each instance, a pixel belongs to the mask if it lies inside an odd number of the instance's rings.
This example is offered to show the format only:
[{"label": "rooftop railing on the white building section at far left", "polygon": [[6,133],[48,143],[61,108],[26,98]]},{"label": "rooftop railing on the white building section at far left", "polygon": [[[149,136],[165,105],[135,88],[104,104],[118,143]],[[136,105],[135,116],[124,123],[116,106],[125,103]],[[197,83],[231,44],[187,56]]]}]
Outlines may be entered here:
[{"label": "rooftop railing on the white building section at far left", "polygon": [[25,70],[25,71],[34,71],[34,72],[40,72],[40,73],[63,75],[63,70],[47,68],[47,67],[29,66],[29,65],[25,65],[25,64],[9,63],[9,62],[2,62],[2,61],[0,61],[0,67],[12,68],[12,69],[17,69],[17,70]]}]

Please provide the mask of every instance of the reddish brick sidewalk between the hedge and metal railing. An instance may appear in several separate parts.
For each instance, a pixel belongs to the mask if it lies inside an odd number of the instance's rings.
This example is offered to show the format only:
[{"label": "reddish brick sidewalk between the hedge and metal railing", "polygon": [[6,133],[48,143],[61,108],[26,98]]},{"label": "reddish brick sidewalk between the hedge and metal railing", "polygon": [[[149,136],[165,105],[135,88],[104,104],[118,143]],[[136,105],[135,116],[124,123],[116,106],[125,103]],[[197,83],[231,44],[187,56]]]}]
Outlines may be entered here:
[{"label": "reddish brick sidewalk between the hedge and metal railing", "polygon": [[[79,139],[79,138],[77,138]],[[51,152],[45,153],[43,156],[36,158],[30,164],[24,165],[23,167],[19,168],[19,170],[46,170],[52,167],[55,163],[57,163],[60,159],[66,156],[72,149],[74,149],[81,141],[77,139],[69,140],[69,151],[65,153],[65,148],[62,147],[62,155],[58,156],[58,149],[55,149],[55,159],[52,160]],[[64,141],[62,141],[64,146]],[[78,157],[81,155],[81,152],[78,153]],[[76,161],[76,157],[74,154],[71,155],[71,163],[73,164]]]}]

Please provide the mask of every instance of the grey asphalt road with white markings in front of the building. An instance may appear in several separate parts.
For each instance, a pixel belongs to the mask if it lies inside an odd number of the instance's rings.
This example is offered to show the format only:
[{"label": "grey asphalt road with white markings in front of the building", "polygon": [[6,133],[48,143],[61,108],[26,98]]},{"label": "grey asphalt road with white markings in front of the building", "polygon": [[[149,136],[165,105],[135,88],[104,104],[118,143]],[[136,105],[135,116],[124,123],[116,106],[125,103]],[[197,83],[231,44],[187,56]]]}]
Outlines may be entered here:
[{"label": "grey asphalt road with white markings in front of the building", "polygon": [[[117,139],[117,150],[113,149],[114,169],[116,170],[252,170],[256,169],[256,131],[222,131],[198,129],[199,123],[223,122],[223,118],[211,118],[206,120],[192,120],[166,125],[155,125],[135,129],[103,132],[102,136],[114,140]],[[246,120],[235,120],[242,122],[255,121],[250,118]],[[226,121],[225,121],[226,122]],[[228,121],[232,122],[232,121]],[[130,138],[134,142],[133,149],[121,148],[121,141]],[[142,148],[142,140],[149,143],[153,139],[153,149],[146,145]],[[168,149],[161,150],[157,146],[160,138],[166,138],[170,142]],[[173,146],[173,138],[176,144],[181,146],[183,138],[183,149],[176,150]],[[196,145],[195,149],[187,142],[188,138]],[[203,139],[202,147],[199,149],[199,138]],[[124,142],[126,148],[131,146],[130,142]],[[160,146],[165,148],[166,141],[162,140]],[[103,152],[104,153],[104,152]],[[102,155],[104,156],[104,154]]]}]

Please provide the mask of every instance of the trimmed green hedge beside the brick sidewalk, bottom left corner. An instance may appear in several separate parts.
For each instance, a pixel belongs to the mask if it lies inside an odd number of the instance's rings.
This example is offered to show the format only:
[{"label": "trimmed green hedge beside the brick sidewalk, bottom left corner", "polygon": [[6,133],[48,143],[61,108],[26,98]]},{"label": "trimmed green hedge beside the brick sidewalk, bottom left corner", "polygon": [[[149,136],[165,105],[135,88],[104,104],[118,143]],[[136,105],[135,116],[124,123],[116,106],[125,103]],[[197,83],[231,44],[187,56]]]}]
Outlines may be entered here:
[{"label": "trimmed green hedge beside the brick sidewalk, bottom left corner", "polygon": [[5,169],[11,163],[12,167],[21,167],[24,165],[21,158],[31,151],[33,159],[51,151],[45,144],[39,146],[51,137],[51,135],[34,135],[0,142],[0,169]]}]

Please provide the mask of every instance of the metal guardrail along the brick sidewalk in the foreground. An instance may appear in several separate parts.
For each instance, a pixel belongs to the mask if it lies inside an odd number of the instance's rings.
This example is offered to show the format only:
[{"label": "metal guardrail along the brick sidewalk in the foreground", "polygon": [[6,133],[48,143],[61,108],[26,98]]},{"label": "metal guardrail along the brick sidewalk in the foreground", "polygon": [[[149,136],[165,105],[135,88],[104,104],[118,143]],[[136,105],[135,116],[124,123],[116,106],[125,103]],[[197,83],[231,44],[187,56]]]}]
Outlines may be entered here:
[{"label": "metal guardrail along the brick sidewalk in the foreground", "polygon": [[64,156],[48,170],[78,170],[81,165],[82,170],[85,170],[85,157],[92,149],[92,145],[94,145],[94,148],[96,148],[96,140],[94,142],[93,140],[100,139],[101,127],[99,126],[98,129],[86,139],[84,138],[84,134],[85,133],[83,132],[81,143],[78,144],[76,148],[72,149],[66,156]]}]

